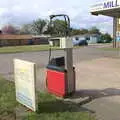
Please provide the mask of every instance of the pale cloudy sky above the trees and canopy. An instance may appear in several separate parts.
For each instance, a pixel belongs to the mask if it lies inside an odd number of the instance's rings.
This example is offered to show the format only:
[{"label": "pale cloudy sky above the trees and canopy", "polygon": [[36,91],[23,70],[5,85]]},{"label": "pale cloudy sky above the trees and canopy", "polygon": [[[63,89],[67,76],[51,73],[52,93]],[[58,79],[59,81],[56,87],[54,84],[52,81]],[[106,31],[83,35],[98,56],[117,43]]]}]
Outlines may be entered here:
[{"label": "pale cloudy sky above the trees and canopy", "polygon": [[48,19],[50,14],[65,13],[75,28],[97,26],[102,32],[112,33],[112,19],[90,15],[90,6],[102,0],[1,0],[0,26],[30,23],[37,18]]}]

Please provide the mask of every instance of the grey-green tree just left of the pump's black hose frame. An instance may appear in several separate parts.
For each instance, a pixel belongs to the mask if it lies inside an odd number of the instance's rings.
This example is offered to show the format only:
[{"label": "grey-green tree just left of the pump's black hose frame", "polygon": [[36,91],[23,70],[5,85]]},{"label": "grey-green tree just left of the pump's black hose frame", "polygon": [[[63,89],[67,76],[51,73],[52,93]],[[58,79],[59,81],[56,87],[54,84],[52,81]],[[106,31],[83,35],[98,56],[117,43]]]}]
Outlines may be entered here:
[{"label": "grey-green tree just left of the pump's black hose frame", "polygon": [[32,24],[32,31],[35,34],[42,34],[44,33],[44,27],[47,25],[47,22],[45,20],[42,19],[38,19],[36,21],[33,22]]}]

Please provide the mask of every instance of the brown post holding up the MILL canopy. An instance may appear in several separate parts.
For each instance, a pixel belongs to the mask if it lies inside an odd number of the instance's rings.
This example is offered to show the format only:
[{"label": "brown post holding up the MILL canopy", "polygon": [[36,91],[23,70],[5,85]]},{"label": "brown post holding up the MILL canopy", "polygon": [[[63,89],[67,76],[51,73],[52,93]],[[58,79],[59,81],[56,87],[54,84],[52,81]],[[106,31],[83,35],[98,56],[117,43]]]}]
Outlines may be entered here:
[{"label": "brown post holding up the MILL canopy", "polygon": [[113,48],[116,48],[117,18],[113,18]]}]

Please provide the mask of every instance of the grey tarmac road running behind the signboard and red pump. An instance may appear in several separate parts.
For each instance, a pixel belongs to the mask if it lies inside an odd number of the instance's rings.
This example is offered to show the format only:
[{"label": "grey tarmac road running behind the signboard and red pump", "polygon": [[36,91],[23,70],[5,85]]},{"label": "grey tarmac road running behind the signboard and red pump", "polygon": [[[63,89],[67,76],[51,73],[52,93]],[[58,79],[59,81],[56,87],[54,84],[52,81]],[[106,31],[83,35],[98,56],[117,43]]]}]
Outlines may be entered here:
[{"label": "grey tarmac road running behind the signboard and red pump", "polygon": [[[94,47],[81,47],[73,50],[74,65],[81,61],[87,61],[100,57],[116,57],[117,52],[102,51]],[[52,57],[63,56],[64,51],[52,52]],[[15,54],[0,54],[0,74],[9,76],[13,74],[13,60],[15,58],[35,62],[39,68],[44,68],[48,63],[48,51],[25,52]]]}]

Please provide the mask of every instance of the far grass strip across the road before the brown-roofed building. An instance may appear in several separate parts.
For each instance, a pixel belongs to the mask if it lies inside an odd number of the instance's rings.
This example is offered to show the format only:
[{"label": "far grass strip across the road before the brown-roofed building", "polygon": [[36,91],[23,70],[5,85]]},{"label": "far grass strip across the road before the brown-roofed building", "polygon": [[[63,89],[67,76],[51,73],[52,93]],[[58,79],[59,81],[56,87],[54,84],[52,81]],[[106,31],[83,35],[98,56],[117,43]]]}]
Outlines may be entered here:
[{"label": "far grass strip across the road before the brown-roofed building", "polygon": [[[53,47],[52,49],[56,50],[59,48]],[[44,50],[49,50],[49,45],[26,45],[26,46],[1,47],[0,53],[34,52],[34,51],[44,51]]]}]

